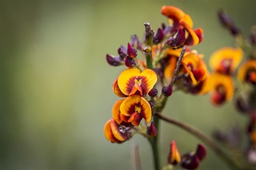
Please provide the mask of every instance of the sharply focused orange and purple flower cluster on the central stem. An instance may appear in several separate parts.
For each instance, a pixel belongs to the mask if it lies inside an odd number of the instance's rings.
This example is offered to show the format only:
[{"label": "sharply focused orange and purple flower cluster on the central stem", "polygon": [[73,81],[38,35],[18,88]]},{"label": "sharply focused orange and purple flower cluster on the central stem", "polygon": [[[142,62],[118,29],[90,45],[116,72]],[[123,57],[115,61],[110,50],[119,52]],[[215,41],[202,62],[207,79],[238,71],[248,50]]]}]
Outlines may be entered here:
[{"label": "sharply focused orange and purple flower cluster on the central stem", "polygon": [[[118,48],[117,56],[106,55],[110,65],[127,67],[113,83],[114,94],[122,99],[114,104],[112,118],[104,127],[110,142],[122,143],[139,133],[155,147],[159,130],[156,114],[162,112],[173,89],[198,95],[210,90],[210,72],[203,55],[189,48],[201,43],[203,30],[193,29],[190,16],[180,8],[163,6],[161,12],[169,21],[167,25],[162,24],[155,33],[149,23],[144,23],[143,41],[133,35],[127,46]],[[198,147],[196,154],[182,156],[177,165],[195,169],[206,154],[204,149],[204,155],[198,155],[202,145]],[[195,160],[193,166],[191,160]]]}]

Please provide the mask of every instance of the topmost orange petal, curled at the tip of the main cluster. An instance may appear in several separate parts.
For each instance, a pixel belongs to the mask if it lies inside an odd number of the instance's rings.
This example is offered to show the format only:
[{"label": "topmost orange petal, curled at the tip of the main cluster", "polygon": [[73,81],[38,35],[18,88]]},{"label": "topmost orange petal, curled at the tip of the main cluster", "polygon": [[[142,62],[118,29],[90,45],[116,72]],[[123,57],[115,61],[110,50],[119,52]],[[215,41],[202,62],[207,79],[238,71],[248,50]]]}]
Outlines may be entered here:
[{"label": "topmost orange petal, curled at the tip of the main cluster", "polygon": [[174,21],[180,21],[185,13],[178,7],[175,6],[163,6],[161,13]]}]

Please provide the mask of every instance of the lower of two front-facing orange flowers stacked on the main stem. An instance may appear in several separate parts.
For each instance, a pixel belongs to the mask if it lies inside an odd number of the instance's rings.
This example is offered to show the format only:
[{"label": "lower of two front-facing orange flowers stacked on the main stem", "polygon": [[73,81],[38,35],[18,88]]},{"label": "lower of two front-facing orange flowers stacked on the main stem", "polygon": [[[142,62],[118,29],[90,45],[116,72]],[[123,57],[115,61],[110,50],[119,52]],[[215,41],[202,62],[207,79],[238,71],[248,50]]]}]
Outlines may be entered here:
[{"label": "lower of two front-facing orange flowers stacked on the main stem", "polygon": [[133,95],[124,99],[120,105],[120,112],[120,114],[128,116],[129,119],[127,122],[134,126],[138,126],[142,118],[144,118],[146,122],[151,120],[151,107],[148,101],[140,95]]}]

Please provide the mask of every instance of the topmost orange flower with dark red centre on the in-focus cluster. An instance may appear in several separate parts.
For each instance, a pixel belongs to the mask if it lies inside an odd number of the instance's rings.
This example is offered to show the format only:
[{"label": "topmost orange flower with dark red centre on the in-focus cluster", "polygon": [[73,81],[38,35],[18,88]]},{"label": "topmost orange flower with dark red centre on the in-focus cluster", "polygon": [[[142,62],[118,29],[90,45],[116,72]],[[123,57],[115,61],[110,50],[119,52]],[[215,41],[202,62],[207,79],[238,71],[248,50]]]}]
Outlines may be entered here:
[{"label": "topmost orange flower with dark red centre on the in-focus cluster", "polygon": [[169,18],[169,23],[173,32],[177,32],[179,29],[186,30],[185,44],[197,45],[203,39],[203,30],[197,28],[193,30],[193,21],[190,16],[184,13],[180,8],[175,6],[163,6],[161,10],[162,14]]}]

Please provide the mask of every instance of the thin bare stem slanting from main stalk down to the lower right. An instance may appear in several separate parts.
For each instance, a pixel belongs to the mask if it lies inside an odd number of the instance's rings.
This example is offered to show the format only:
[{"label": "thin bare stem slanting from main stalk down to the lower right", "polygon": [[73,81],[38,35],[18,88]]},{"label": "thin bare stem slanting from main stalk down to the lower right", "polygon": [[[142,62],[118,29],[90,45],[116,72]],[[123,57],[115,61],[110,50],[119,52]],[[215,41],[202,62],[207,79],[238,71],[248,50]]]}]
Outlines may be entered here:
[{"label": "thin bare stem slanting from main stalk down to the lower right", "polygon": [[198,129],[194,128],[193,126],[180,122],[178,120],[175,120],[173,118],[161,115],[161,114],[155,114],[155,116],[161,118],[162,120],[172,123],[174,125],[179,126],[183,130],[188,131],[191,134],[194,134],[195,137],[202,140],[208,147],[210,147],[217,155],[219,155],[222,160],[224,160],[231,169],[242,169],[237,162],[235,162],[233,159],[230,158],[230,156],[226,155],[226,153],[210,138],[208,138],[203,132],[199,131]]}]

